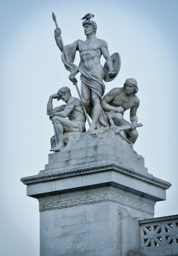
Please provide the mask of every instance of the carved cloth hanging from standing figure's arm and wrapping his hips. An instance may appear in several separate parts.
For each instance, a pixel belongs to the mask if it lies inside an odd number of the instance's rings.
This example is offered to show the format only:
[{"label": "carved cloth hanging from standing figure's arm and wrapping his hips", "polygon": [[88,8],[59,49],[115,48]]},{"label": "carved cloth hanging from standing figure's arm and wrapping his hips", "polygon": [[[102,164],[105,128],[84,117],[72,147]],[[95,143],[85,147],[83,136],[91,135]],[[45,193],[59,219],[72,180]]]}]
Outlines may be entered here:
[{"label": "carved cloth hanging from standing figure's arm and wrapping his hips", "polygon": [[[101,79],[99,79],[97,76],[95,76],[91,72],[87,72],[87,70],[81,67],[80,63],[78,67],[73,63],[73,61],[75,60],[78,41],[79,40],[75,41],[73,44],[65,46],[66,54],[68,56],[68,61],[66,60],[64,51],[62,52],[61,59],[64,63],[64,66],[66,67],[66,70],[70,71],[70,76],[69,76],[70,81],[76,84],[77,79],[75,78],[75,76],[77,75],[78,72],[80,72],[81,74],[80,79],[82,83],[84,83],[93,92],[97,93],[97,95],[100,97],[100,104],[102,106],[102,97],[105,92],[105,84],[103,83],[103,81],[101,81]],[[93,106],[93,102],[91,102],[91,106]],[[91,114],[91,118],[93,118],[93,113]],[[97,128],[102,126],[106,127],[108,126],[108,124],[107,124],[107,118],[105,116],[105,113],[101,108],[101,113],[97,122]]]}]

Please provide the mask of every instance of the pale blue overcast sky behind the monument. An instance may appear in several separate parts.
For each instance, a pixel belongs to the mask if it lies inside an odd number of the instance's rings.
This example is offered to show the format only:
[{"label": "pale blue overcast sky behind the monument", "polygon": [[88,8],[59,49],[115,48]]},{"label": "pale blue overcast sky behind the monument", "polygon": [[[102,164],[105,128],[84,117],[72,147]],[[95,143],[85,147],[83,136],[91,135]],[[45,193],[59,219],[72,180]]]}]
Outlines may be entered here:
[{"label": "pale blue overcast sky behind the monument", "polygon": [[62,86],[77,97],[54,40],[52,12],[64,44],[85,40],[80,18],[95,14],[96,36],[121,56],[106,93],[128,77],[137,79],[138,122],[144,126],[134,148],[149,173],[172,183],[155,217],[178,214],[177,8],[174,0],[1,1],[1,255],[39,255],[38,201],[26,196],[20,178],[36,175],[48,162],[54,134],[48,97]]}]

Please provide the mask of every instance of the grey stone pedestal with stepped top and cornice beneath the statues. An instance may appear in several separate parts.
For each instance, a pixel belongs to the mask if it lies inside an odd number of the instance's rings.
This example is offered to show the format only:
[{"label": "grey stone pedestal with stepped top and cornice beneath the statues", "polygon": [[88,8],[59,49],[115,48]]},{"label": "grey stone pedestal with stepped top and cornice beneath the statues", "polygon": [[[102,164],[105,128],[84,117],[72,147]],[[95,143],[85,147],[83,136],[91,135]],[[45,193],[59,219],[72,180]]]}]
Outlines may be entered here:
[{"label": "grey stone pedestal with stepped top and cornice beneath the statues", "polygon": [[170,183],[149,174],[119,134],[78,135],[45,170],[22,178],[40,204],[40,255],[137,255],[138,220],[154,216]]}]

